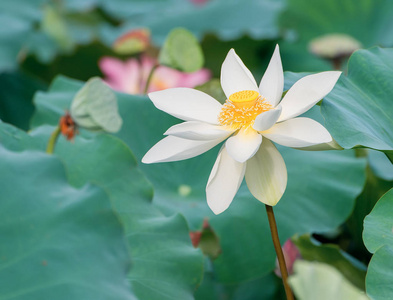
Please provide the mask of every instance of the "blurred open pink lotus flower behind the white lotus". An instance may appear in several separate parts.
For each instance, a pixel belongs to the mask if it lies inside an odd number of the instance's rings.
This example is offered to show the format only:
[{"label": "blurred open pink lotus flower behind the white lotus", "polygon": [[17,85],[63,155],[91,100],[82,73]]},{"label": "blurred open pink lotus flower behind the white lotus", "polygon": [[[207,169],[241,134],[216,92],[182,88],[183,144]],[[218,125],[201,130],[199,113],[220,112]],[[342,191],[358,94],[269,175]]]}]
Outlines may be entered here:
[{"label": "blurred open pink lotus flower behind the white lotus", "polygon": [[[126,61],[113,57],[103,57],[99,61],[105,82],[114,90],[128,94],[142,94],[147,77],[156,63],[154,58],[142,56],[141,61],[132,58]],[[168,67],[159,66],[150,82],[148,93],[174,87],[195,87],[207,82],[211,73],[201,69],[194,73],[183,73]]]}]

